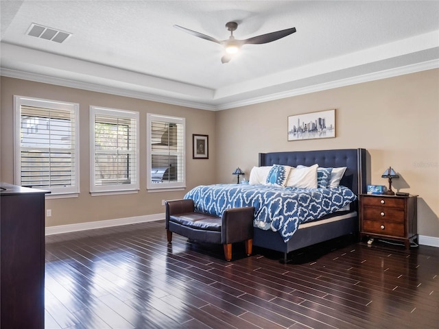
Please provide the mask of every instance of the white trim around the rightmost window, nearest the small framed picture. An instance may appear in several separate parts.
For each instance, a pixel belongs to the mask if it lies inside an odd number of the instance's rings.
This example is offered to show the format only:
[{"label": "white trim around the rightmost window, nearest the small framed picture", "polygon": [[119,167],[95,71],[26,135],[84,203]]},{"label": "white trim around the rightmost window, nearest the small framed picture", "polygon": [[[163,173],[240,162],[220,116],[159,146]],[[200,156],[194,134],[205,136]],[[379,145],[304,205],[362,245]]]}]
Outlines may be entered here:
[{"label": "white trim around the rightmost window, nearest the small framed picture", "polygon": [[[152,156],[152,136],[151,136],[151,123],[152,121],[165,121],[169,123],[179,123],[185,128],[185,138],[182,141],[182,162],[183,162],[183,180],[182,182],[167,182],[163,184],[153,184],[151,182],[151,156]],[[186,188],[186,119],[180,117],[169,117],[161,114],[147,113],[147,129],[146,129],[146,141],[147,141],[147,182],[146,188],[148,192],[169,192],[169,191],[183,191]]]}]

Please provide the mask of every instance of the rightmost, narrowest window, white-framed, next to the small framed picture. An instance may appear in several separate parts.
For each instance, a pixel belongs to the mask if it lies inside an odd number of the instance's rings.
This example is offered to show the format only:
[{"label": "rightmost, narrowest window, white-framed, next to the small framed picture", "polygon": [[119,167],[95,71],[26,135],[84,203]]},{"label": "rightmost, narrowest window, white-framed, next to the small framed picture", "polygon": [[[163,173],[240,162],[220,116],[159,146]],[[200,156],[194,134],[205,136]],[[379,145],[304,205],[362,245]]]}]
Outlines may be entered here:
[{"label": "rightmost, narrowest window, white-framed, next to the small framed picture", "polygon": [[185,119],[147,114],[147,144],[147,188],[185,188]]}]

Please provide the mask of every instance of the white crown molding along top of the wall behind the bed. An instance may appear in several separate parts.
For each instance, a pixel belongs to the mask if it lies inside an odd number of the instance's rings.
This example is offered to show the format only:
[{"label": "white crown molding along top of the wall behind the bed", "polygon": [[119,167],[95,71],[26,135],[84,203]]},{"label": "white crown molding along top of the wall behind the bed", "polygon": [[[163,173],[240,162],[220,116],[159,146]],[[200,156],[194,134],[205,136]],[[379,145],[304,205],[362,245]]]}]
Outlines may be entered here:
[{"label": "white crown molding along top of the wall behind the bed", "polygon": [[276,99],[283,99],[287,97],[294,97],[294,96],[305,95],[309,93],[316,93],[318,91],[329,90],[329,89],[339,88],[344,86],[351,86],[353,84],[361,84],[363,82],[381,80],[381,79],[386,79],[388,77],[396,77],[399,75],[405,75],[405,74],[416,73],[420,71],[427,71],[427,70],[438,69],[438,68],[439,68],[439,60],[430,60],[427,62],[398,67],[396,69],[389,69],[385,71],[368,73],[365,75],[358,75],[356,77],[349,77],[346,79],[326,82],[324,84],[317,84],[314,86],[296,88],[282,93],[274,93],[272,95],[254,97],[251,99],[244,99],[243,101],[224,103],[222,105],[216,106],[215,108],[216,110],[227,110],[229,108],[238,108],[240,106],[248,106],[252,104],[263,103],[265,101],[274,101]]}]

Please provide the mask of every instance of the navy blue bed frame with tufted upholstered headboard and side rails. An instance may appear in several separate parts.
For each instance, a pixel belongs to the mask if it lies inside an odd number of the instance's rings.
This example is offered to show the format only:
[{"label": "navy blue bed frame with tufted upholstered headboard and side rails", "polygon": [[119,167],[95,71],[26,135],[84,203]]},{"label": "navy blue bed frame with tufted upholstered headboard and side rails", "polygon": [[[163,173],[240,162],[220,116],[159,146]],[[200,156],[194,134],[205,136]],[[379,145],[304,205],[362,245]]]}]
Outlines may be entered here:
[{"label": "navy blue bed frame with tufted upholstered headboard and side rails", "polygon": [[[320,167],[346,167],[340,182],[350,188],[356,195],[366,193],[369,182],[366,170],[366,149],[329,149],[322,151],[291,151],[259,154],[259,166],[283,164],[296,167],[299,164],[311,166],[318,163]],[[292,239],[285,243],[278,232],[254,228],[253,245],[283,252],[284,261],[293,250],[335,239],[346,234],[359,232],[358,202],[351,205],[351,215],[345,219],[322,223],[307,228],[300,228]]]}]

